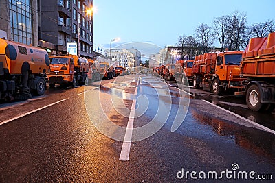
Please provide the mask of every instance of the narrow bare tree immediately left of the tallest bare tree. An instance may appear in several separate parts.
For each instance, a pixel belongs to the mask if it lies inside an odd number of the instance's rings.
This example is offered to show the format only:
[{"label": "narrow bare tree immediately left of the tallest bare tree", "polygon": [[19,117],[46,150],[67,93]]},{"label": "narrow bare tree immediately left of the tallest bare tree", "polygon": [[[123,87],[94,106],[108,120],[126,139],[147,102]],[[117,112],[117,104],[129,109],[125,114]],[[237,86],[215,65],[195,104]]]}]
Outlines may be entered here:
[{"label": "narrow bare tree immediately left of the tallest bare tree", "polygon": [[214,19],[214,31],[216,33],[216,37],[219,40],[219,45],[221,47],[221,51],[225,49],[225,41],[226,41],[226,32],[228,29],[228,22],[230,20],[230,16],[220,16]]}]

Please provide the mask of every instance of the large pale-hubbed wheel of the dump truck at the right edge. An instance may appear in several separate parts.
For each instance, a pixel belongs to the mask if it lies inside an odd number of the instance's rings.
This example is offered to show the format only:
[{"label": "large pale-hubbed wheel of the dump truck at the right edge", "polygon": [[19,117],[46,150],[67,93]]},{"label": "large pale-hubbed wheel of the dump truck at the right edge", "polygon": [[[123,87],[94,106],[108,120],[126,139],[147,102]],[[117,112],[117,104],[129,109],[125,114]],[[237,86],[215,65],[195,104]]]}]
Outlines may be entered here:
[{"label": "large pale-hubbed wheel of the dump truck at the right edge", "polygon": [[248,87],[245,98],[246,103],[248,104],[248,108],[250,108],[251,110],[259,111],[265,107],[263,103],[261,103],[260,89],[256,85],[251,85]]}]

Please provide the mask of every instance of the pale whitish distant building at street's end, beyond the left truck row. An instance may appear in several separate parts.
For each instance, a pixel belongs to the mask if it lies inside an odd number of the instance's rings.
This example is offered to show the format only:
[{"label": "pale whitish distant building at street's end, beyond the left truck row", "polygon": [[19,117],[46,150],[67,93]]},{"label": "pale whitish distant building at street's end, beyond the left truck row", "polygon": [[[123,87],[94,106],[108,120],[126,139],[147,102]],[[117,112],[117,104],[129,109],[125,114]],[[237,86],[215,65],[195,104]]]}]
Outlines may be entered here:
[{"label": "pale whitish distant building at street's end, beyond the left truck row", "polygon": [[112,59],[112,64],[117,63],[126,68],[131,68],[135,65],[135,54],[128,49],[111,49],[111,52],[110,50],[105,50],[105,56]]}]

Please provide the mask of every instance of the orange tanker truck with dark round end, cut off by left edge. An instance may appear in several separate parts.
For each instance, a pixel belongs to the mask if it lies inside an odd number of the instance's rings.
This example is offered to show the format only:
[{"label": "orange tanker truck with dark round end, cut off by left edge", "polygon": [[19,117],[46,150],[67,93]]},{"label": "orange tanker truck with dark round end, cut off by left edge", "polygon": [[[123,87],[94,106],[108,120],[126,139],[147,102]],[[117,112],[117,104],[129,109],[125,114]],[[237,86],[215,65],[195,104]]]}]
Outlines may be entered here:
[{"label": "orange tanker truck with dark round end, cut off by left edge", "polygon": [[47,52],[0,38],[0,99],[30,99],[43,95],[50,70]]}]

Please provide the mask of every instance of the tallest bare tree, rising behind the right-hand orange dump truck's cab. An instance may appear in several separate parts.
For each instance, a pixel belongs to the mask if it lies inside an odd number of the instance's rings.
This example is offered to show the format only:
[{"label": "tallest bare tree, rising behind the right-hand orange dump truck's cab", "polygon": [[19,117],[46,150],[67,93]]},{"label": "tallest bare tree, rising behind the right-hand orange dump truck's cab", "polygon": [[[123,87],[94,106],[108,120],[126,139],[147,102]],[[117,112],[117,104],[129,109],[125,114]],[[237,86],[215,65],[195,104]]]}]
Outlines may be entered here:
[{"label": "tallest bare tree, rising behind the right-hand orange dump truck's cab", "polygon": [[246,14],[234,11],[228,20],[225,45],[230,51],[245,47],[245,26],[248,19]]}]

